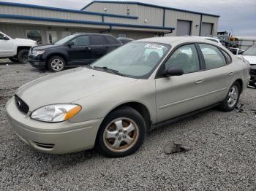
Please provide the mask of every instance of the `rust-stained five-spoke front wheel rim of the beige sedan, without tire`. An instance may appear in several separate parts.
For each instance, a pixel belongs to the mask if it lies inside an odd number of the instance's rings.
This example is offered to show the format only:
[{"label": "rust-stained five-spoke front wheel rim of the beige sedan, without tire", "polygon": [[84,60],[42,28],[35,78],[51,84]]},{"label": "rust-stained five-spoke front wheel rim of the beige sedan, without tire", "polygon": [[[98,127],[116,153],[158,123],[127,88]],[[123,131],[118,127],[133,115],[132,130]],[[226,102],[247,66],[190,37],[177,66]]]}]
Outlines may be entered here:
[{"label": "rust-stained five-spoke front wheel rim of the beige sedan, without tire", "polygon": [[121,117],[113,120],[105,128],[103,141],[105,147],[113,152],[125,152],[138,141],[138,125],[131,119]]}]

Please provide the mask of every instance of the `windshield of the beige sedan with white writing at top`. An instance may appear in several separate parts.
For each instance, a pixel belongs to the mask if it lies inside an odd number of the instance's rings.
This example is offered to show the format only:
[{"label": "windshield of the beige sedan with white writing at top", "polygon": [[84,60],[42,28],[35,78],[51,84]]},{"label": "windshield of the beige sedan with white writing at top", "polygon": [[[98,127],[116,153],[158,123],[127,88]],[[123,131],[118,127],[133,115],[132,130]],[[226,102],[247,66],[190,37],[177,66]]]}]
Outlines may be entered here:
[{"label": "windshield of the beige sedan with white writing at top", "polygon": [[92,63],[91,67],[106,67],[129,77],[148,78],[169,49],[166,44],[130,42]]}]

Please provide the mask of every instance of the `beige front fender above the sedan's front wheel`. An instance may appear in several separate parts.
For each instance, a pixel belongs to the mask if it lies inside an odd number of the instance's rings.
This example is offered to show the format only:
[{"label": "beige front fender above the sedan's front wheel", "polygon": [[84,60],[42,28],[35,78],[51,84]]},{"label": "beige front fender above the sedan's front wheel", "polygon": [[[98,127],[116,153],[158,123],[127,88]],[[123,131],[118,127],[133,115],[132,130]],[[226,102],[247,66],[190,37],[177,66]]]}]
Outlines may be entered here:
[{"label": "beige front fender above the sedan's front wheel", "polygon": [[83,122],[105,118],[113,109],[122,104],[137,102],[148,109],[151,121],[157,120],[154,79],[137,80],[134,83],[105,90],[89,97],[74,101],[82,110],[70,119],[71,122]]}]

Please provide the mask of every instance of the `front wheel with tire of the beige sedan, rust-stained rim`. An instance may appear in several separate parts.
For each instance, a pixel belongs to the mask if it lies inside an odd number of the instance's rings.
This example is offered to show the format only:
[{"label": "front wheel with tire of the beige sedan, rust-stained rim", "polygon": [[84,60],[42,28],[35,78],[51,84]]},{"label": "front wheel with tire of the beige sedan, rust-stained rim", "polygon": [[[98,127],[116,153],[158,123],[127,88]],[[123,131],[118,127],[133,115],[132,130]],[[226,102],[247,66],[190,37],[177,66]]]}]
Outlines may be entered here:
[{"label": "front wheel with tire of the beige sedan, rust-stained rim", "polygon": [[[108,138],[107,138],[108,137]],[[107,157],[124,157],[136,152],[146,137],[146,122],[130,107],[108,114],[99,127],[96,147]]]}]

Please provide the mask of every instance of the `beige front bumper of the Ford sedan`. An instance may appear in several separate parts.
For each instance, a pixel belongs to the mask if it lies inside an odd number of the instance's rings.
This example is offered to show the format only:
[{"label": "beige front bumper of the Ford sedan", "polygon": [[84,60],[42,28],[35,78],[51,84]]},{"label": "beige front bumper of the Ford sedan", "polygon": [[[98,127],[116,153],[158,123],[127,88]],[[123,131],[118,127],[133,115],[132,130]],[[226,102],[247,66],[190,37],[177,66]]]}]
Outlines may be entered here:
[{"label": "beige front bumper of the Ford sedan", "polygon": [[7,102],[7,118],[12,130],[26,144],[42,152],[63,154],[91,149],[97,136],[102,119],[86,122],[39,122],[29,114],[23,114],[15,105],[15,99]]}]

